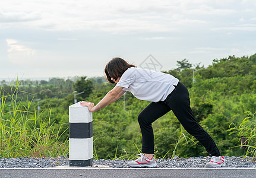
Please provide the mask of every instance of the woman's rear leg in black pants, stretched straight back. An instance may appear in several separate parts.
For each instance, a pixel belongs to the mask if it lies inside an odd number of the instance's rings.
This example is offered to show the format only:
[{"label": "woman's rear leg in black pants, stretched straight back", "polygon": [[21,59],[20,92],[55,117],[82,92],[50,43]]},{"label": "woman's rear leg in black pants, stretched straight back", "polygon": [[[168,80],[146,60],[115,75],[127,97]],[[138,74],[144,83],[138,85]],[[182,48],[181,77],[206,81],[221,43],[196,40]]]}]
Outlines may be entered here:
[{"label": "woman's rear leg in black pants, stretched straight back", "polygon": [[195,138],[206,148],[210,156],[219,156],[220,152],[213,139],[206,131],[197,123],[192,113],[189,101],[188,90],[181,82],[176,86],[175,90],[164,101],[181,122],[186,131],[195,136]]}]

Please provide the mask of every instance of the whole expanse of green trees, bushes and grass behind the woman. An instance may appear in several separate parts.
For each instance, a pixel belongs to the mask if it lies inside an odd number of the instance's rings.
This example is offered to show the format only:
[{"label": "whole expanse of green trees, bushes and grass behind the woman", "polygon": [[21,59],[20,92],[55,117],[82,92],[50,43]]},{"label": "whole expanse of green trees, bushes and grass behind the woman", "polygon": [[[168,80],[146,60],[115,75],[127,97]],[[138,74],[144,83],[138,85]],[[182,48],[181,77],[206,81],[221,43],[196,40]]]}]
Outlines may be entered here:
[{"label": "whole expanse of green trees, bushes and grass behind the woman", "polygon": [[[204,67],[187,59],[162,71],[189,90],[195,119],[222,155],[255,154],[256,54],[213,59]],[[194,73],[194,75],[193,75]],[[193,77],[194,76],[194,77]],[[0,158],[68,157],[68,107],[77,101],[97,104],[114,85],[103,77],[0,81]],[[81,94],[79,94],[81,93]],[[150,102],[131,93],[93,113],[94,159],[132,159],[141,149],[137,116]],[[172,112],[153,123],[156,158],[207,156]],[[246,148],[241,149],[242,137]]]}]

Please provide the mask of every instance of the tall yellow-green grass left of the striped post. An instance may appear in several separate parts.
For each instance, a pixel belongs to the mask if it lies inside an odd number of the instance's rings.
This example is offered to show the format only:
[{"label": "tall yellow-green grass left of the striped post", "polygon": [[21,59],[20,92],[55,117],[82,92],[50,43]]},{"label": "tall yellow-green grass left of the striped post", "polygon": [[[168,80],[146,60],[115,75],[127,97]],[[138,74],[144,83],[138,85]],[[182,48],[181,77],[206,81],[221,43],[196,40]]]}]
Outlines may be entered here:
[{"label": "tall yellow-green grass left of the striped post", "polygon": [[18,101],[18,94],[24,94],[18,90],[19,84],[18,80],[10,83],[11,93],[0,89],[0,158],[67,156],[68,141],[59,141],[65,132],[59,133],[62,125],[53,126],[51,110],[48,117],[41,118],[36,109],[30,109],[32,100]]}]

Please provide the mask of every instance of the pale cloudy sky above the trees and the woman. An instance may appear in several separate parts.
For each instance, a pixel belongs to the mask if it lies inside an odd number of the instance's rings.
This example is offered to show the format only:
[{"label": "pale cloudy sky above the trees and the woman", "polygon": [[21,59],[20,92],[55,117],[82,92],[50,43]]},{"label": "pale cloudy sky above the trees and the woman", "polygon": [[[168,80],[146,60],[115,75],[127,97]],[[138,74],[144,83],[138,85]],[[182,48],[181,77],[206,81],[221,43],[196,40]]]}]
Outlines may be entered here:
[{"label": "pale cloudy sky above the trees and the woman", "polygon": [[0,1],[0,79],[103,76],[114,57],[168,71],[254,53],[255,0]]}]

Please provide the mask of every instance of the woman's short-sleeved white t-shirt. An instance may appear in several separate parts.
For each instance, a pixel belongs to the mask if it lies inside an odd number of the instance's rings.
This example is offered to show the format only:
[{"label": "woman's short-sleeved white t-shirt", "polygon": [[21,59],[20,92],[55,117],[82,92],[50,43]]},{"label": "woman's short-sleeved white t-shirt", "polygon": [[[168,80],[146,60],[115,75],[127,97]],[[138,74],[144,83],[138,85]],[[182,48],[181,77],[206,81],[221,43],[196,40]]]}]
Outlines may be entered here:
[{"label": "woman's short-sleeved white t-shirt", "polygon": [[123,90],[130,91],[136,98],[146,101],[164,101],[175,89],[178,78],[159,71],[140,68],[128,68],[116,86],[124,87]]}]

